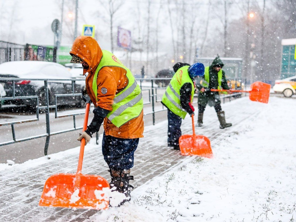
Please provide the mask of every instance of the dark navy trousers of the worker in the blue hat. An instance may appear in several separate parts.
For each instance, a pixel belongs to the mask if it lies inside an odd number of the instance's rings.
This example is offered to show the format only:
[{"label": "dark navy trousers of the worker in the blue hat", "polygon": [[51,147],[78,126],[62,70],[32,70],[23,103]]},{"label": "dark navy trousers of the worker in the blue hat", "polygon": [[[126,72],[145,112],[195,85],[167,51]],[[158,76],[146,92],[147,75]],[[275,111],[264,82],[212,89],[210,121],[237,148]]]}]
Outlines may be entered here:
[{"label": "dark navy trousers of the worker in the blue hat", "polygon": [[167,110],[167,146],[179,146],[179,138],[181,133],[182,118],[177,116],[175,113]]}]

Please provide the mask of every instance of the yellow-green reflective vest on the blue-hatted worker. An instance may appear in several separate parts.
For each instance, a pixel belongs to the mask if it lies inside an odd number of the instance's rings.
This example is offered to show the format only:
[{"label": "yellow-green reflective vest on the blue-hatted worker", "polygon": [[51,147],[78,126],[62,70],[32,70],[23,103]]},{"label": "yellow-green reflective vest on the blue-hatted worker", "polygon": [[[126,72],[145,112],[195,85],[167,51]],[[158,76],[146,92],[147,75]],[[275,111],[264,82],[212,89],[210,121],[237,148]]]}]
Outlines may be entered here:
[{"label": "yellow-green reflective vest on the blue-hatted worker", "polygon": [[162,96],[162,103],[167,106],[173,113],[181,118],[185,118],[187,112],[182,108],[180,102],[180,89],[185,83],[191,83],[191,102],[194,96],[194,84],[188,74],[189,66],[183,66],[177,70],[170,81],[166,92]]}]

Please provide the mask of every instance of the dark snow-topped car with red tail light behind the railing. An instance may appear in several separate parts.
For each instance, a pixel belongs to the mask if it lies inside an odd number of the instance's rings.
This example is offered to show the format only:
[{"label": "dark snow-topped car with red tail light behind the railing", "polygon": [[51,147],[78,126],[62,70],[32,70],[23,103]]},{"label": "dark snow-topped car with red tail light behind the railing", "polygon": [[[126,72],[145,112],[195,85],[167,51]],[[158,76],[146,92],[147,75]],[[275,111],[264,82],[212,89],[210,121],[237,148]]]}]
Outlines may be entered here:
[{"label": "dark snow-topped car with red tail light behind the railing", "polygon": [[[43,61],[12,61],[0,64],[0,77],[4,78],[22,78],[28,80],[15,81],[14,92],[15,96],[33,96],[38,95],[39,106],[44,106],[45,89],[44,81],[30,79],[55,79],[48,81],[49,104],[55,104],[55,94],[71,94],[72,81],[63,81],[59,79],[70,79],[71,73],[64,66]],[[4,86],[6,97],[13,97],[13,81],[0,80]],[[81,92],[81,84],[74,83],[74,92]],[[6,100],[16,105],[27,105],[36,107],[36,99],[19,99]],[[77,105],[83,104],[82,98],[79,96],[57,97],[57,105]]]}]

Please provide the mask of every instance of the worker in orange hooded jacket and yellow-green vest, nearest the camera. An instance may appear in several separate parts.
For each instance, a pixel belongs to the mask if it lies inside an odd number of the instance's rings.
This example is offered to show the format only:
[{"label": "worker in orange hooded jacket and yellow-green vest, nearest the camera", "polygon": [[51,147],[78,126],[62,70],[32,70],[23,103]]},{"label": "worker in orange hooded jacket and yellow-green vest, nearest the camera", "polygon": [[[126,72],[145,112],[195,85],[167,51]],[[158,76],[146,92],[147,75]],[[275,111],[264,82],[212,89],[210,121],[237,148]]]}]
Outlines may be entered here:
[{"label": "worker in orange hooded jacket and yellow-green vest, nearest the camera", "polygon": [[92,122],[77,140],[84,138],[87,144],[104,121],[102,153],[109,166],[111,190],[126,196],[122,204],[130,200],[130,169],[144,131],[141,89],[130,70],[111,52],[101,50],[92,37],[76,38],[70,55],[71,63],[81,63],[83,74],[88,72],[84,91],[95,105]]}]

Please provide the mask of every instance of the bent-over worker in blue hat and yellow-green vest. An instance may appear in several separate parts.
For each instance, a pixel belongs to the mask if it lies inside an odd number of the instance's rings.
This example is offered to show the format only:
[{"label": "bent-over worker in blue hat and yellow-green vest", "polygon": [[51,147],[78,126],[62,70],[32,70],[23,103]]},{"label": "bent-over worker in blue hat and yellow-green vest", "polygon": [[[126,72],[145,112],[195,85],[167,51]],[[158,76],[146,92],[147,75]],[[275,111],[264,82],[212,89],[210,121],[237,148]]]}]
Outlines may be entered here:
[{"label": "bent-over worker in blue hat and yellow-green vest", "polygon": [[[179,66],[179,63],[175,65]],[[182,64],[162,96],[161,102],[167,107],[167,146],[172,146],[175,150],[180,150],[179,138],[182,135],[180,128],[182,119],[185,118],[187,113],[190,116],[194,114],[194,108],[191,104],[195,92],[194,78],[203,75],[203,64],[195,63],[191,66]]]}]

